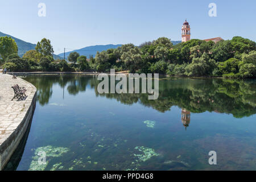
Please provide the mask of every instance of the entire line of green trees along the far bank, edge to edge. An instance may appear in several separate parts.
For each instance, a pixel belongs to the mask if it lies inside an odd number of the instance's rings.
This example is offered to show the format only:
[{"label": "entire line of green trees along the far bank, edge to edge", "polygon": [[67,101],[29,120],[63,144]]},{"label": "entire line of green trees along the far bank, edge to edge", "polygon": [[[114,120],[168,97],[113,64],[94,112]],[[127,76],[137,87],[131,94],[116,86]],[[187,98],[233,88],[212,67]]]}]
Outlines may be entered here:
[{"label": "entire line of green trees along the far bank, edge to edge", "polygon": [[[192,39],[172,44],[168,38],[145,42],[141,46],[125,44],[116,49],[97,52],[96,57],[72,52],[68,60],[54,60],[51,42],[42,39],[35,50],[22,58],[11,38],[0,38],[3,67],[12,71],[117,71],[130,73],[160,73],[171,76],[256,77],[256,44],[252,40],[234,37],[212,41]],[[2,49],[3,48],[3,49]]]}]

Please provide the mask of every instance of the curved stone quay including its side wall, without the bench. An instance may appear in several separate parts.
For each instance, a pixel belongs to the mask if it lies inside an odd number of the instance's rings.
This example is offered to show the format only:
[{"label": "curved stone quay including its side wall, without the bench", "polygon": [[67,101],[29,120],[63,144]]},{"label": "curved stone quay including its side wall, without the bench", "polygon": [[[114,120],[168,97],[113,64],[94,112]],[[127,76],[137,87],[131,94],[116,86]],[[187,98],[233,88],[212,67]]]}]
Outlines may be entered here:
[{"label": "curved stone quay including its side wall, without the bench", "polygon": [[[11,99],[18,84],[26,88],[26,100]],[[36,106],[36,88],[22,78],[13,79],[10,75],[0,75],[0,171],[9,162],[19,146],[32,121]]]}]

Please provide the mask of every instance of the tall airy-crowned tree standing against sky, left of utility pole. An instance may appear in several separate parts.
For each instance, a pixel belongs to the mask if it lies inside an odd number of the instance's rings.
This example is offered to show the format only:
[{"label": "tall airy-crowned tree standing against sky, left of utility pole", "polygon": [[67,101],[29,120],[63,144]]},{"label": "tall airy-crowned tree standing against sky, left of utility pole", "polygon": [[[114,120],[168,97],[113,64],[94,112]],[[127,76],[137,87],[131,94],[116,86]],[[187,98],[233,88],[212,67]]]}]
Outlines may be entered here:
[{"label": "tall airy-crowned tree standing against sky, left of utility pole", "polygon": [[43,38],[41,42],[36,44],[36,52],[40,53],[42,56],[52,56],[53,48],[51,46],[51,41],[49,39]]}]

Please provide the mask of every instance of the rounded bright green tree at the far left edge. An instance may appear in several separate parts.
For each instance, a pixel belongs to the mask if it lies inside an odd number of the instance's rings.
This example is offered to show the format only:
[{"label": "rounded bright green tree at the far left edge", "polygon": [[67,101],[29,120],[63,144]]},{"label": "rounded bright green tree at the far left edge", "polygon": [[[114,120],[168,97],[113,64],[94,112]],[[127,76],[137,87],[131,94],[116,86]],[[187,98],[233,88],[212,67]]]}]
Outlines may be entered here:
[{"label": "rounded bright green tree at the far left edge", "polygon": [[13,53],[18,53],[15,40],[8,36],[0,37],[0,56],[3,61],[6,61],[7,57]]}]

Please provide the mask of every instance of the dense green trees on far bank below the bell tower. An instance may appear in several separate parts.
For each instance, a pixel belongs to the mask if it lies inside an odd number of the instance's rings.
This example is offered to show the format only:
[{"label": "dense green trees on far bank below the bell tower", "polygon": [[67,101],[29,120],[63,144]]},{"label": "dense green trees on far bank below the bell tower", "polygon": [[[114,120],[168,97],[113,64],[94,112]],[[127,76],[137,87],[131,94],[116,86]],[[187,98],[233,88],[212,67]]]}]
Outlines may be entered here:
[{"label": "dense green trees on far bank below the bell tower", "polygon": [[[247,78],[256,77],[255,56],[255,42],[239,36],[216,44],[192,39],[175,46],[170,39],[159,38],[139,47],[125,44],[97,52],[88,65],[98,72],[109,72],[114,68],[131,73]],[[70,61],[76,62],[78,57]]]}]

